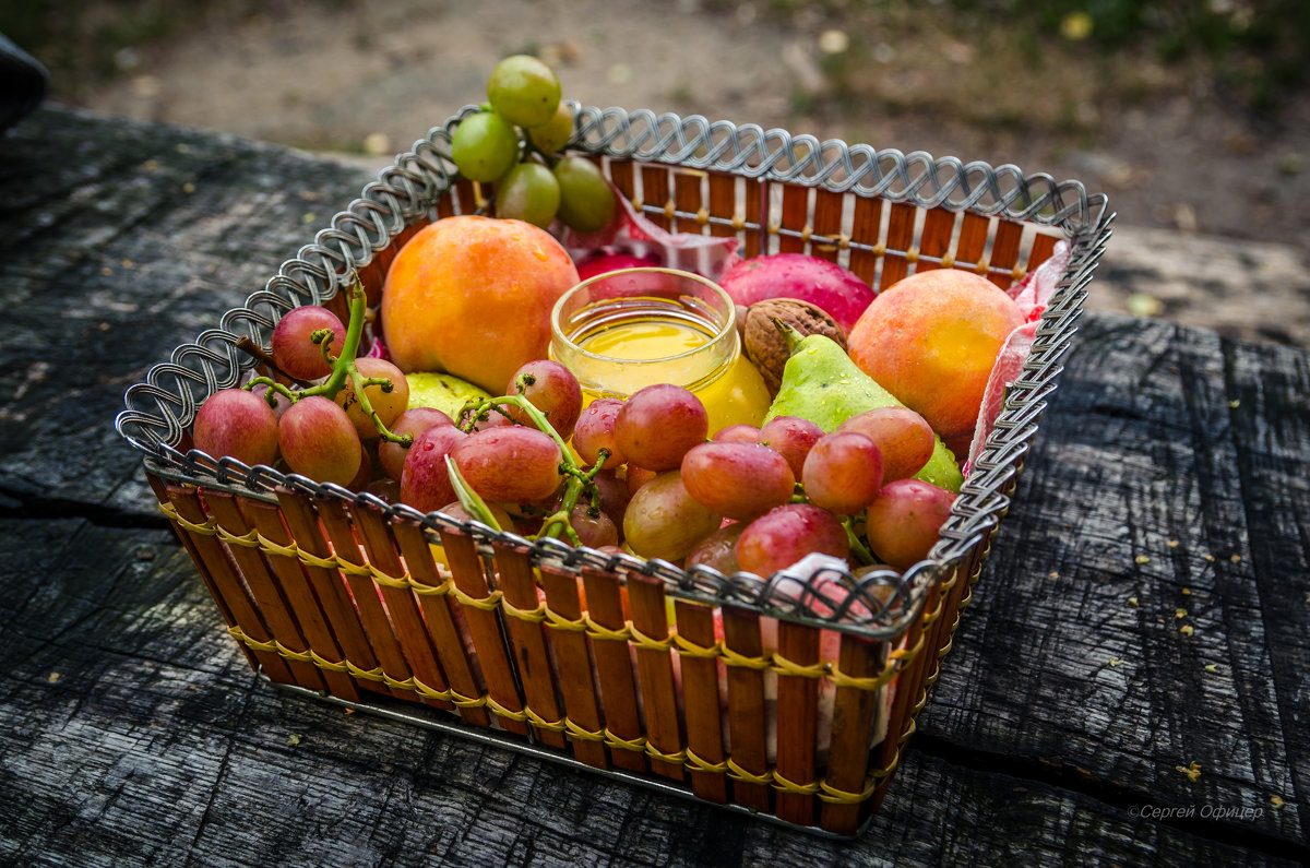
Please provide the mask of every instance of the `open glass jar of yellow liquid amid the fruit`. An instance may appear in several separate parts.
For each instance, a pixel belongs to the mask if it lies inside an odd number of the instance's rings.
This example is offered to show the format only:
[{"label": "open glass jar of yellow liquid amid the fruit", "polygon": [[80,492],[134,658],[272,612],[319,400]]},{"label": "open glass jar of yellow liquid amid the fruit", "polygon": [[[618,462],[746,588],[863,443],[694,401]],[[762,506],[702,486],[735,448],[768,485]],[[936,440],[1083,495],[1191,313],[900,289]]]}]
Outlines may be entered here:
[{"label": "open glass jar of yellow liquid amid the fruit", "polygon": [[705,404],[711,434],[758,425],[770,404],[741,353],[732,299],[690,271],[624,269],[583,281],[552,311],[550,357],[578,378],[584,403],[681,385]]}]

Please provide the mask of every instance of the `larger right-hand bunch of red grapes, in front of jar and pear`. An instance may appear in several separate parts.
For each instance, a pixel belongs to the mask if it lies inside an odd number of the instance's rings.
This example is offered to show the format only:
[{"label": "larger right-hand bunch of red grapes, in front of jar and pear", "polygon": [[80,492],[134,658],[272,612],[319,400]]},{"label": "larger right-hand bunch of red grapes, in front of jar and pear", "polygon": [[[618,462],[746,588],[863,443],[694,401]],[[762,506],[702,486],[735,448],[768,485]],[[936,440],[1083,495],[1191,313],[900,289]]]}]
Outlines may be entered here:
[{"label": "larger right-hand bunch of red grapes, in front of jar and pear", "polygon": [[417,434],[400,497],[528,536],[760,576],[811,552],[905,569],[950,511],[950,492],[908,479],[934,441],[904,408],[828,434],[798,417],[707,429],[685,388],[584,406],[567,368],[529,362],[504,395]]}]

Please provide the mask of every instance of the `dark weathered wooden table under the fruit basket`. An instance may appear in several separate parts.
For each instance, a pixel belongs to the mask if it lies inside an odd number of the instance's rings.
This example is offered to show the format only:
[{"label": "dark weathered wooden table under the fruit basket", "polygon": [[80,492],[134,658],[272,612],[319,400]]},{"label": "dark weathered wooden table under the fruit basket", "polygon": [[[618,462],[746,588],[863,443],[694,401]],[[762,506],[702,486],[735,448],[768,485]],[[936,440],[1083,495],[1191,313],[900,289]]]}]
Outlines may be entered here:
[{"label": "dark weathered wooden table under the fruit basket", "polygon": [[111,420],[368,180],[58,109],[0,138],[0,863],[1310,859],[1310,357],[1159,321],[1083,321],[854,843],[259,681]]}]

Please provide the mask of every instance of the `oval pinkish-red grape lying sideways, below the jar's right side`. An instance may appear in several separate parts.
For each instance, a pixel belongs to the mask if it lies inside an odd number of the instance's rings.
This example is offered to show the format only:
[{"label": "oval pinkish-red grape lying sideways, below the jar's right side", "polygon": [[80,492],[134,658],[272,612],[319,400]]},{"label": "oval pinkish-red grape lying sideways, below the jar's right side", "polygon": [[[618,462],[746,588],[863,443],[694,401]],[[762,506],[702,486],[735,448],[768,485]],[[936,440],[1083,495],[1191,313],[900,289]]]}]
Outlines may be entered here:
[{"label": "oval pinkish-red grape lying sideways, below the jar's right side", "polygon": [[683,485],[719,515],[749,521],[791,501],[787,459],[760,443],[701,443],[683,456]]}]

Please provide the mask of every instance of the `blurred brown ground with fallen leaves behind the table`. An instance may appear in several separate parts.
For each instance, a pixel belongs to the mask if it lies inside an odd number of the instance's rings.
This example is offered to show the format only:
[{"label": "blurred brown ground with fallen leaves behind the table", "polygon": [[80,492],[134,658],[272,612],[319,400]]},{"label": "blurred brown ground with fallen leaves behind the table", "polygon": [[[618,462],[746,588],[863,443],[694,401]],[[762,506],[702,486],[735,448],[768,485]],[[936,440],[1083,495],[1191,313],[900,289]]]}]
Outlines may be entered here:
[{"label": "blurred brown ground with fallen leaves behind the table", "polygon": [[1310,349],[1306,0],[18,0],[0,33],[47,102],[371,168],[515,52],[583,104],[1014,163],[1110,194],[1093,307]]}]

